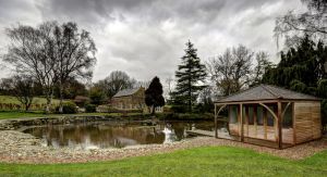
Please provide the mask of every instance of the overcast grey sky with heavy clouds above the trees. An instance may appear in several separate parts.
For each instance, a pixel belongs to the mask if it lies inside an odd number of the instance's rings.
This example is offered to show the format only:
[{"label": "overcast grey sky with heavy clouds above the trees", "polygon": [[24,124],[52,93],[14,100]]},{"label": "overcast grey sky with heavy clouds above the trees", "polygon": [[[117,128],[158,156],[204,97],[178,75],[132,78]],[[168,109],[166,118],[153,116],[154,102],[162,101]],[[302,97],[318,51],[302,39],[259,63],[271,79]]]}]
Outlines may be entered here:
[{"label": "overcast grey sky with heavy clouds above the trees", "polygon": [[5,27],[73,21],[96,42],[94,81],[116,69],[137,80],[165,80],[189,39],[203,61],[242,43],[278,62],[275,18],[301,7],[300,0],[0,0],[0,52]]}]

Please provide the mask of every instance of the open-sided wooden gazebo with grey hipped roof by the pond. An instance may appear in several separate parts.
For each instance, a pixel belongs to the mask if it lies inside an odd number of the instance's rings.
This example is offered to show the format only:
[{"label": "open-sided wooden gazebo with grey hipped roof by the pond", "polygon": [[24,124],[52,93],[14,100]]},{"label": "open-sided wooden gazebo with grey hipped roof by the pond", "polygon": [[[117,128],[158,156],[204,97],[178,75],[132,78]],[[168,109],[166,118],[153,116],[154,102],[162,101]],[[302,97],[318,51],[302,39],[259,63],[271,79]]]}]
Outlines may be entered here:
[{"label": "open-sided wooden gazebo with grey hipped roof by the pond", "polygon": [[[227,117],[218,116],[223,110]],[[320,138],[320,99],[276,86],[259,85],[215,102],[216,138],[282,149]]]}]

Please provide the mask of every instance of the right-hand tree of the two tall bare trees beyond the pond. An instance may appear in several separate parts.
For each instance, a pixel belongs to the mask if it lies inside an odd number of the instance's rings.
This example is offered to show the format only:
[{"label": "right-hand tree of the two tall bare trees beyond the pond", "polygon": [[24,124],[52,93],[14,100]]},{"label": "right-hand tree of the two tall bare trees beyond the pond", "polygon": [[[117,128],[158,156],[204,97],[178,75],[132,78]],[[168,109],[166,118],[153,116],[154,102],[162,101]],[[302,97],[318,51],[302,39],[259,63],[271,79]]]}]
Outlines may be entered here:
[{"label": "right-hand tree of the two tall bare trees beyond the pond", "polygon": [[62,112],[63,89],[70,78],[92,78],[92,69],[96,62],[96,47],[89,33],[78,31],[75,23],[69,22],[59,26],[55,22],[53,29],[53,55],[56,67],[53,72],[58,75],[60,106]]}]

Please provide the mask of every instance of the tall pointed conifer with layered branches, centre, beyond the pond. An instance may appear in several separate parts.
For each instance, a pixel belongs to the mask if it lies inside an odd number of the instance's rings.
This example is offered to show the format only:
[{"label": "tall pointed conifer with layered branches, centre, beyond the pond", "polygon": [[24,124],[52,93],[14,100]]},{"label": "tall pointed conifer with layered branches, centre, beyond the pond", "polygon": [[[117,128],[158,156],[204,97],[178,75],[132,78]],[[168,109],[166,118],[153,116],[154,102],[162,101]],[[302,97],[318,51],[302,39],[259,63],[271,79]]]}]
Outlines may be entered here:
[{"label": "tall pointed conifer with layered branches, centre, beyond the pond", "polygon": [[182,63],[175,72],[177,90],[173,96],[175,103],[186,104],[189,112],[192,112],[192,105],[197,99],[198,92],[206,87],[203,84],[207,74],[205,65],[197,56],[197,49],[190,40],[185,45],[185,54],[181,58]]}]

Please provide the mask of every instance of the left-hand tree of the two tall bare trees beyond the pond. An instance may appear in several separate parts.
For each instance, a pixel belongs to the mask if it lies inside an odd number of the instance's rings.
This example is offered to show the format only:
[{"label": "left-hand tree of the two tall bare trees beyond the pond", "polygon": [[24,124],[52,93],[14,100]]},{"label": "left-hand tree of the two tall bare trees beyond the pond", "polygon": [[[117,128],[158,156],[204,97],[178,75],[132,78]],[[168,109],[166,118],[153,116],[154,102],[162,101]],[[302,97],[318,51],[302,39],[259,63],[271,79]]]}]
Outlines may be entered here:
[{"label": "left-hand tree of the two tall bare trees beyond the pond", "polygon": [[55,23],[43,23],[38,27],[19,25],[7,29],[11,39],[4,62],[14,66],[17,74],[28,75],[37,80],[44,88],[47,99],[46,112],[49,112],[53,86],[58,77],[56,58],[53,56],[53,34]]}]

